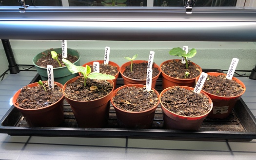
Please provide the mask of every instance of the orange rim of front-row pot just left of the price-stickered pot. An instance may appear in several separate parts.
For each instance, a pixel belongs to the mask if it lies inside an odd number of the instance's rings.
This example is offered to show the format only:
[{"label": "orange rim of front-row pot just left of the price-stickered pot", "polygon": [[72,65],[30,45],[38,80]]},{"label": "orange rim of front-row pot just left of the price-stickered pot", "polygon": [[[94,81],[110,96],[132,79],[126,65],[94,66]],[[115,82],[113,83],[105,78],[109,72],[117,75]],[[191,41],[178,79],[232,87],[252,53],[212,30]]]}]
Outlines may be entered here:
[{"label": "orange rim of front-row pot just left of the price-stickered pot", "polygon": [[[176,86],[168,87],[168,88],[164,89],[164,90],[160,93],[160,104],[161,104],[161,107],[163,107],[163,108],[164,108],[166,111],[168,111],[168,112],[171,112],[171,111],[168,110],[168,109],[162,104],[161,96],[162,96],[162,94],[165,93],[167,90],[172,89],[172,88],[174,88],[174,87],[176,87]],[[179,87],[185,88],[185,89],[189,89],[189,90],[194,90],[193,87],[188,87],[188,86],[179,86]],[[190,119],[198,119],[198,118],[200,118],[200,117],[204,117],[205,115],[209,114],[209,113],[212,111],[212,109],[213,109],[213,101],[212,101],[212,99],[211,99],[206,93],[200,92],[200,94],[203,94],[204,96],[206,96],[206,97],[209,99],[209,103],[211,104],[211,109],[210,109],[208,112],[206,112],[205,114],[200,115],[200,116],[193,116],[193,117],[192,117],[192,116],[179,115],[179,114],[176,114],[176,113],[174,113],[174,112],[171,112],[171,113],[172,113],[172,114],[175,114],[175,115],[177,115],[177,116],[179,116],[179,117],[190,118]]]}]

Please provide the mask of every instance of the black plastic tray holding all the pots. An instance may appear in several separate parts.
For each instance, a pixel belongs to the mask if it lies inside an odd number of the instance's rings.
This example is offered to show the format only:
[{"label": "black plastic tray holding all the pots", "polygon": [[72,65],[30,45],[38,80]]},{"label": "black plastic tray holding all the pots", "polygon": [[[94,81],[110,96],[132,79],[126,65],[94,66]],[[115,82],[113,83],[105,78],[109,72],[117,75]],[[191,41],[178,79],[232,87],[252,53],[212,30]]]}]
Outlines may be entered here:
[{"label": "black plastic tray holding all the pots", "polygon": [[[222,72],[218,69],[203,69],[204,72]],[[37,75],[31,82],[38,81]],[[123,85],[118,79],[117,86]],[[161,78],[156,89],[161,92]],[[182,139],[182,140],[220,140],[251,141],[256,139],[256,118],[246,106],[242,98],[236,102],[233,112],[226,119],[213,120],[206,118],[197,131],[163,129],[162,111],[158,106],[154,123],[150,129],[119,128],[116,113],[110,106],[108,126],[105,128],[79,128],[70,106],[64,101],[64,122],[58,127],[28,127],[21,113],[12,106],[1,119],[0,133],[11,136],[64,136],[64,137],[129,137],[150,139]]]}]

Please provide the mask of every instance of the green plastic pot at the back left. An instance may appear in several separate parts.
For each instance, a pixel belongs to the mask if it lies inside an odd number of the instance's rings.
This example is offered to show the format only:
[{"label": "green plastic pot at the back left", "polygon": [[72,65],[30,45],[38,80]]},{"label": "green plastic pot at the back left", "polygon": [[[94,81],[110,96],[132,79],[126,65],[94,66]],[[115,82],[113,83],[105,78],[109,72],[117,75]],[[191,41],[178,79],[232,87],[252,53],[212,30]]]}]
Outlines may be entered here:
[{"label": "green plastic pot at the back left", "polygon": [[[39,54],[37,54],[34,58],[33,58],[33,64],[35,65],[38,74],[40,75],[42,80],[47,80],[47,68],[44,67],[40,67],[38,66],[36,63],[37,61],[44,56],[42,53],[48,53],[51,52],[52,50],[56,51],[57,53],[61,53],[61,48],[53,48],[53,49],[48,49],[45,50]],[[71,49],[71,48],[67,48],[67,52],[68,55],[72,55],[72,56],[77,56],[78,60],[73,63],[75,65],[80,65],[80,54],[78,51]],[[54,81],[57,81],[61,84],[65,84],[68,80],[78,76],[78,74],[72,74],[66,66],[63,67],[58,67],[58,68],[53,68],[53,73],[54,73]]]}]

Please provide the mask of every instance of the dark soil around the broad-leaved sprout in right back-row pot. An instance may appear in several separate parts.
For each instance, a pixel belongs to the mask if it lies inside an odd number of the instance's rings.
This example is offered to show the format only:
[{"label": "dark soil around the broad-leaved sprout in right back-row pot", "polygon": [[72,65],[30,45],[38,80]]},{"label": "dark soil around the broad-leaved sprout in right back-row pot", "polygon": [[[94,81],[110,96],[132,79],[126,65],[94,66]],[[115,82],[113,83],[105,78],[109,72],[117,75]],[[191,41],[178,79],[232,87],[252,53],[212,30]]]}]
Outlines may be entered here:
[{"label": "dark soil around the broad-leaved sprout in right back-row pot", "polygon": [[[177,79],[193,79],[200,75],[200,69],[192,64],[190,60],[188,60],[188,69],[186,69],[186,64],[181,64],[181,60],[168,61],[161,65],[161,69],[168,76]],[[188,77],[185,77],[185,72],[189,72]]]}]

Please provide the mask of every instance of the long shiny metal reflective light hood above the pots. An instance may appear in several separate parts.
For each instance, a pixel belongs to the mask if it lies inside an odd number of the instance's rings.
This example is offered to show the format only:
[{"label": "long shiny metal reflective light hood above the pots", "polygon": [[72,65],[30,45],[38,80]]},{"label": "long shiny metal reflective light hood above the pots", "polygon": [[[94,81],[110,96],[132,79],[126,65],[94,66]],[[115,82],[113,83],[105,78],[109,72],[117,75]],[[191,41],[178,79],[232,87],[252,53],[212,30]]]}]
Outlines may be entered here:
[{"label": "long shiny metal reflective light hood above the pots", "polygon": [[0,39],[256,41],[256,8],[0,7]]}]

